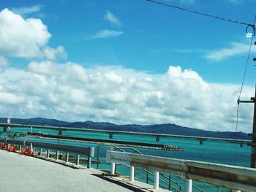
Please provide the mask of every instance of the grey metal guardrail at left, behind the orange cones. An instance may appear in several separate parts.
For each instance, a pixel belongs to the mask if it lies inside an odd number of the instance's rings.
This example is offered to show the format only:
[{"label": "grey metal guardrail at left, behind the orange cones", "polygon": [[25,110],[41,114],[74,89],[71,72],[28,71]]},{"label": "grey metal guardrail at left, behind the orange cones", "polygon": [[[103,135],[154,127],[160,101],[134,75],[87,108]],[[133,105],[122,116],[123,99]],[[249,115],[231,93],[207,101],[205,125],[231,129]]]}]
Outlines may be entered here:
[{"label": "grey metal guardrail at left, behind the orange cones", "polygon": [[56,160],[59,158],[59,151],[66,152],[66,162],[69,161],[69,153],[74,153],[77,155],[76,164],[79,164],[80,155],[88,156],[87,167],[91,168],[91,158],[94,157],[94,147],[83,147],[83,146],[74,146],[74,145],[62,145],[56,143],[48,142],[34,142],[34,141],[24,141],[18,139],[1,139],[0,142],[4,142],[10,145],[20,145],[30,146],[31,143],[33,147],[39,148],[39,155],[42,156],[42,149],[47,149],[47,158],[50,158],[50,150],[56,152]]}]

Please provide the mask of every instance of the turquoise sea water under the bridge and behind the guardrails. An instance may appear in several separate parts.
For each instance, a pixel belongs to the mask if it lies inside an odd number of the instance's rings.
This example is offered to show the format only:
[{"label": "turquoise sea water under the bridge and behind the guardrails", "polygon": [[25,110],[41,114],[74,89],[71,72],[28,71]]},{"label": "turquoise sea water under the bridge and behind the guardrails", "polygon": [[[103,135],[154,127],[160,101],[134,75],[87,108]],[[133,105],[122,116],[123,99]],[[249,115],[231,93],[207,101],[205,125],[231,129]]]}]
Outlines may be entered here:
[{"label": "turquoise sea water under the bridge and behind the guardrails", "polygon": [[[30,128],[12,128],[12,133],[23,133],[23,132],[30,132]],[[58,134],[59,131],[52,131],[52,130],[45,130],[39,128],[33,128],[33,132],[41,132],[47,134]],[[97,138],[97,139],[109,139],[108,134],[102,133],[95,133],[95,132],[82,132],[82,131],[63,131],[62,133],[64,136],[72,136],[72,137],[86,137],[86,138]],[[1,137],[6,137],[6,134],[2,134]],[[19,138],[19,139],[27,139],[33,140],[33,138]],[[181,147],[182,151],[168,151],[168,150],[153,150],[153,149],[146,149],[142,147],[135,147],[143,154],[147,155],[157,155],[167,158],[181,158],[186,160],[195,160],[195,161],[206,161],[212,163],[219,163],[219,164],[231,164],[231,165],[238,165],[238,166],[249,166],[250,161],[250,153],[251,148],[244,145],[244,147],[240,147],[239,144],[233,144],[228,142],[217,142],[217,141],[204,141],[203,145],[199,145],[199,141],[195,139],[179,139],[179,138],[172,138],[172,137],[161,137],[159,142],[156,142],[155,137],[148,137],[148,136],[137,136],[137,135],[126,135],[126,134],[114,134],[114,140],[120,141],[130,141],[130,142],[146,142],[146,143],[157,143],[163,145],[177,145]],[[113,140],[109,139],[109,140]],[[37,141],[45,142],[58,142],[58,140],[53,139],[35,139]],[[95,147],[95,157],[94,160],[97,160],[97,146],[96,144],[89,144],[86,142],[69,142],[69,141],[59,141],[61,144],[67,145],[83,145],[83,146],[92,146]],[[105,153],[106,150],[110,150],[110,146],[100,146],[99,147],[99,169],[110,169],[110,164],[105,162]],[[127,151],[132,152],[132,151]],[[96,168],[96,164],[92,165]],[[129,175],[129,168],[125,166],[117,167],[118,172],[121,174]],[[143,174],[146,174],[145,171],[140,170]],[[140,180],[145,179],[141,177],[139,174],[136,175]],[[149,178],[153,180],[153,177],[149,175]],[[184,182],[182,182],[177,177],[172,177],[173,180],[180,183],[184,188]],[[165,180],[165,179],[164,179]],[[167,181],[167,180],[166,180]],[[153,184],[151,181],[148,183]],[[206,183],[197,183],[193,181],[198,187],[202,188],[204,191],[217,191],[217,188],[213,185],[208,185]],[[164,183],[163,185],[167,187]],[[173,183],[173,186],[178,187]],[[172,189],[173,190],[173,189]],[[173,190],[175,191],[175,190]],[[227,191],[227,189],[222,188],[221,191]]]}]

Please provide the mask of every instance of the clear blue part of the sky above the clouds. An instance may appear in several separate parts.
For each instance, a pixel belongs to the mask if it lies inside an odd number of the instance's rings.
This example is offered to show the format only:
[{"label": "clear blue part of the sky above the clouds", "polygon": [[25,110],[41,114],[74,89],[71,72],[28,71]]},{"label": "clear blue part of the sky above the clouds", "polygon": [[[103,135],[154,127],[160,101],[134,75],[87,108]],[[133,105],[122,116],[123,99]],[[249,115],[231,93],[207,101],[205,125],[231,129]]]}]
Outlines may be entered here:
[{"label": "clear blue part of the sky above the clouds", "polygon": [[[225,18],[253,23],[254,1],[162,1],[208,12]],[[48,45],[62,45],[70,61],[84,66],[119,64],[151,73],[166,72],[169,65],[195,69],[206,81],[241,82],[246,53],[220,61],[207,54],[233,42],[249,44],[246,26],[205,18],[162,7],[148,1],[2,1],[1,9],[37,6],[23,14],[41,18],[52,34]],[[105,20],[111,12],[120,24]],[[99,31],[122,32],[117,37],[89,39]],[[252,66],[252,62],[251,62]],[[253,69],[249,68],[249,77]],[[247,83],[253,80],[248,80]]]}]

